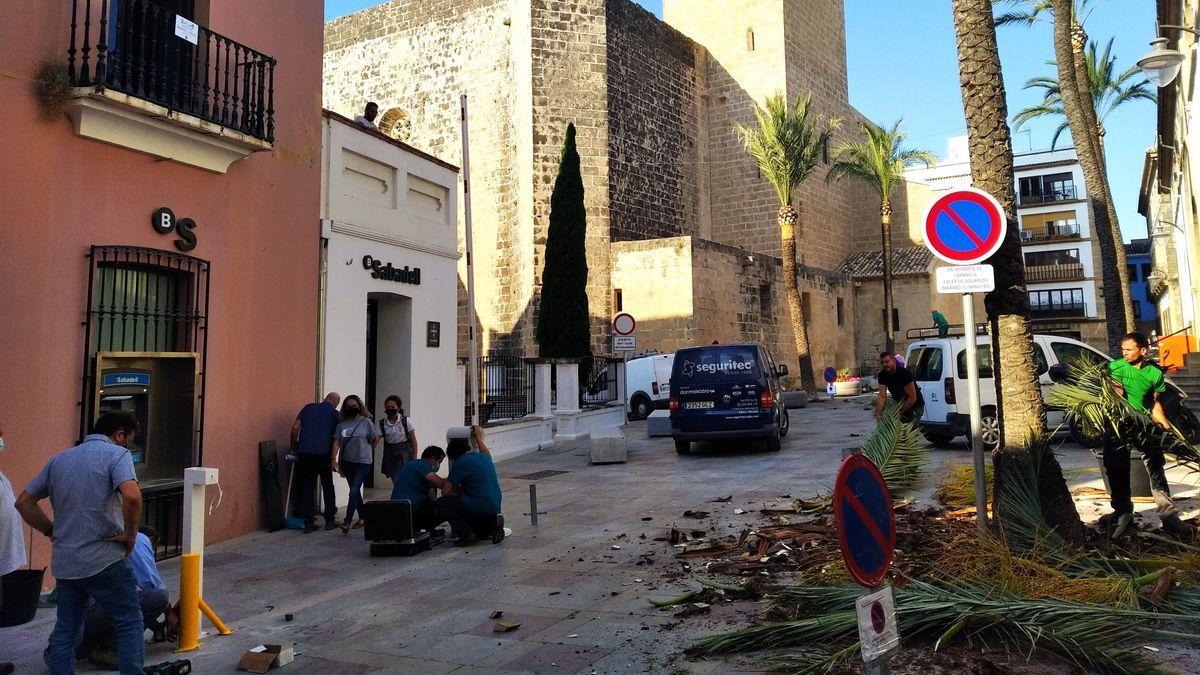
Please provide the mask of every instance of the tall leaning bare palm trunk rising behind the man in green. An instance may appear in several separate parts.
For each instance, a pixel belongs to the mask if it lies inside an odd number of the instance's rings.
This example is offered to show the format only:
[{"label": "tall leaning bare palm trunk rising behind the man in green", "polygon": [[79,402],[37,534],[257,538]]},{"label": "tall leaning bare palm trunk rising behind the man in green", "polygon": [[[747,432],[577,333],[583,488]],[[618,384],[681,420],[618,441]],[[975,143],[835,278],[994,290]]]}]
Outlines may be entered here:
[{"label": "tall leaning bare palm trunk rising behind the man in green", "polygon": [[1126,267],[1121,223],[1112,204],[1112,191],[1104,167],[1100,124],[1096,117],[1087,58],[1084,47],[1087,34],[1074,18],[1073,0],[1054,0],[1054,49],[1058,64],[1060,94],[1075,153],[1084,172],[1087,198],[1092,205],[1096,241],[1100,249],[1100,277],[1104,283],[1104,315],[1109,333],[1109,353],[1121,351],[1121,338],[1134,330],[1129,270]]}]

